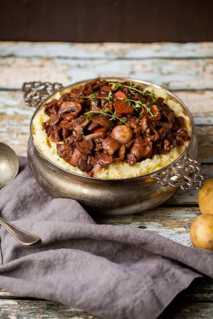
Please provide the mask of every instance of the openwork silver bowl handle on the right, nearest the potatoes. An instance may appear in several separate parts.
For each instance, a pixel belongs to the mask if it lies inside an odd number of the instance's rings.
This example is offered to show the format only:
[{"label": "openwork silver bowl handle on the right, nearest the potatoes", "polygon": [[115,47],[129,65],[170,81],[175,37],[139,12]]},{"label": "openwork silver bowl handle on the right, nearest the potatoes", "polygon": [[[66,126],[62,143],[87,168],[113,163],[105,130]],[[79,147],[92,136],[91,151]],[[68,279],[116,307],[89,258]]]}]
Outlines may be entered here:
[{"label": "openwork silver bowl handle on the right, nearest the potatoes", "polygon": [[152,174],[151,178],[157,180],[162,186],[170,185],[181,189],[201,189],[205,182],[201,174],[201,165],[191,159],[186,153],[173,165],[163,170],[160,174]]}]

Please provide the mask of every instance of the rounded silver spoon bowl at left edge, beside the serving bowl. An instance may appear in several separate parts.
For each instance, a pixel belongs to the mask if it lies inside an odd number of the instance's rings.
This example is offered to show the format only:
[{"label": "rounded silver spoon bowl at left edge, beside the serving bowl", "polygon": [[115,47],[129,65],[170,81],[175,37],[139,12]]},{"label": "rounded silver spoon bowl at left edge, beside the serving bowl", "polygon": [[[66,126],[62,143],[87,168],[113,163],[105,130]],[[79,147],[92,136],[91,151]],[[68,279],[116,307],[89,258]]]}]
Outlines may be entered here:
[{"label": "rounded silver spoon bowl at left edge, beside the serving bowl", "polygon": [[0,188],[9,184],[18,174],[19,160],[10,146],[0,143]]}]

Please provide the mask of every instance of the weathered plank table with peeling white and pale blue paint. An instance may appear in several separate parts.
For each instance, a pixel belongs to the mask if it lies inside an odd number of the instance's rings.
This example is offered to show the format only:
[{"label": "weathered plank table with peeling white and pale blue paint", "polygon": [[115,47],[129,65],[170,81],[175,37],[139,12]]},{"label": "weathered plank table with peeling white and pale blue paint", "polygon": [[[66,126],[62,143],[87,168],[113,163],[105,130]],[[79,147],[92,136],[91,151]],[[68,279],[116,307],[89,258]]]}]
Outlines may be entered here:
[{"label": "weathered plank table with peeling white and pale blue paint", "polygon": [[[213,177],[213,42],[153,44],[73,44],[2,42],[0,44],[0,140],[26,156],[34,109],[26,107],[23,82],[57,81],[63,85],[97,76],[131,76],[153,81],[175,93],[194,115],[198,159],[206,178]],[[200,214],[197,191],[178,191],[164,205],[136,215],[99,217],[100,224],[146,228],[183,245]],[[178,228],[182,228],[180,231]],[[213,265],[212,265],[213,266]],[[140,283],[140,278],[139,278]],[[198,285],[199,284],[199,285]],[[0,291],[1,318],[96,318],[51,301],[18,298]],[[161,318],[213,318],[211,281],[194,283]],[[116,318],[115,318],[116,319]]]}]

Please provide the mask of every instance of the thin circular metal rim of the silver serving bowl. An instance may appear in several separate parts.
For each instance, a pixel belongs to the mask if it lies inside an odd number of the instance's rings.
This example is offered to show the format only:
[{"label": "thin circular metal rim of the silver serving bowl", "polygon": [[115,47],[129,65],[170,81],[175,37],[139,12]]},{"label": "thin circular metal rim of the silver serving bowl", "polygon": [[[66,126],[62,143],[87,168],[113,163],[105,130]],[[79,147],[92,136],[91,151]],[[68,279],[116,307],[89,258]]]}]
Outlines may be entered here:
[{"label": "thin circular metal rim of the silver serving bowl", "polygon": [[[93,78],[92,78],[93,79]],[[138,84],[142,84],[142,85],[146,85],[146,86],[152,86],[153,88],[156,88],[156,89],[164,89],[166,90],[166,93],[168,94],[169,97],[173,98],[173,100],[177,101],[181,107],[186,110],[186,112],[188,113],[187,116],[189,116],[190,118],[190,121],[191,121],[191,126],[192,126],[192,136],[191,136],[191,139],[189,141],[189,144],[187,145],[185,151],[179,155],[179,157],[177,157],[177,159],[175,159],[174,161],[172,161],[170,164],[152,172],[152,173],[148,173],[148,174],[144,174],[144,175],[139,175],[139,176],[134,176],[134,177],[123,177],[123,178],[99,178],[99,177],[92,177],[92,176],[85,176],[85,175],[81,175],[81,174],[77,174],[77,173],[74,173],[74,172],[71,172],[71,171],[68,171],[67,169],[63,168],[63,167],[60,167],[58,166],[57,164],[55,164],[54,162],[52,162],[50,159],[48,159],[40,150],[39,148],[37,147],[37,145],[34,143],[34,139],[33,139],[33,135],[32,135],[32,123],[33,123],[33,119],[34,119],[34,116],[35,114],[42,108],[42,106],[46,103],[47,100],[49,100],[51,98],[51,96],[55,95],[56,93],[58,92],[61,92],[61,91],[64,91],[66,90],[67,88],[70,88],[71,86],[78,86],[78,85],[82,85],[88,81],[91,81],[92,79],[86,79],[86,80],[81,80],[81,81],[78,81],[78,82],[74,82],[74,83],[71,83],[67,86],[63,86],[62,88],[56,90],[53,94],[49,95],[45,100],[42,101],[42,103],[35,109],[35,112],[34,114],[32,115],[32,118],[31,118],[31,121],[30,121],[30,138],[32,139],[32,142],[33,142],[33,145],[34,147],[36,148],[36,150],[40,153],[40,155],[45,159],[47,160],[51,165],[57,167],[57,169],[61,169],[63,171],[65,171],[66,173],[69,173],[69,174],[72,174],[74,176],[77,176],[77,177],[82,177],[82,178],[88,178],[90,180],[95,180],[95,181],[107,181],[107,182],[110,182],[110,181],[126,181],[126,180],[133,180],[133,179],[139,179],[139,178],[143,178],[143,177],[150,177],[151,175],[153,174],[159,174],[160,172],[162,172],[163,170],[166,170],[168,167],[171,167],[171,165],[174,165],[176,162],[179,161],[179,159],[181,159],[186,153],[187,151],[190,149],[191,145],[192,145],[192,142],[194,140],[194,136],[195,136],[195,124],[194,124],[194,119],[193,119],[193,116],[191,114],[191,112],[189,111],[189,109],[187,108],[187,106],[185,105],[185,103],[183,103],[182,100],[179,99],[179,97],[172,93],[170,90],[167,90],[165,89],[163,86],[161,85],[158,85],[158,84],[155,84],[153,82],[149,82],[149,81],[145,81],[145,80],[140,80],[140,79],[135,79],[135,78],[130,78],[130,77],[104,77],[105,80],[107,81],[119,81],[119,82],[124,82],[124,81],[128,81],[128,82],[136,82]],[[153,180],[154,181],[154,180]]]}]

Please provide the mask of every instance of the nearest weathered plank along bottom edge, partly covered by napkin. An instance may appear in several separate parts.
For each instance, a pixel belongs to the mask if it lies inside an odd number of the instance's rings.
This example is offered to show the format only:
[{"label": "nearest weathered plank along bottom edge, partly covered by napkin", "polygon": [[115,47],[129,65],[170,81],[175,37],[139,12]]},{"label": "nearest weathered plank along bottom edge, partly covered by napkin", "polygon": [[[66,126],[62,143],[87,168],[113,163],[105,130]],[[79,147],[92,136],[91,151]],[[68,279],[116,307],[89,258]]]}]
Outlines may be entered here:
[{"label": "nearest weathered plank along bottom edge, partly covered by napkin", "polygon": [[[98,319],[85,311],[52,301],[0,300],[1,318],[10,319]],[[172,302],[159,319],[212,319],[213,303]]]}]

